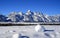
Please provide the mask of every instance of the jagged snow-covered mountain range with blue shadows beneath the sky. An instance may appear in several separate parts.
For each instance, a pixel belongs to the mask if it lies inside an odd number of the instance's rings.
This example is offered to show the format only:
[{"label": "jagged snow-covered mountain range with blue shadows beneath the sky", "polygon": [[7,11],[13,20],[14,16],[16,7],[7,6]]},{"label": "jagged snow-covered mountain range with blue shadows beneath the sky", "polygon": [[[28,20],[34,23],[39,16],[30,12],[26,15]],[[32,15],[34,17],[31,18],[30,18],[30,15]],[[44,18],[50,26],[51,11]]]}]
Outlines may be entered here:
[{"label": "jagged snow-covered mountain range with blue shadows beneath the sky", "polygon": [[60,22],[60,16],[48,16],[40,12],[12,12],[8,16],[0,15],[0,22]]}]

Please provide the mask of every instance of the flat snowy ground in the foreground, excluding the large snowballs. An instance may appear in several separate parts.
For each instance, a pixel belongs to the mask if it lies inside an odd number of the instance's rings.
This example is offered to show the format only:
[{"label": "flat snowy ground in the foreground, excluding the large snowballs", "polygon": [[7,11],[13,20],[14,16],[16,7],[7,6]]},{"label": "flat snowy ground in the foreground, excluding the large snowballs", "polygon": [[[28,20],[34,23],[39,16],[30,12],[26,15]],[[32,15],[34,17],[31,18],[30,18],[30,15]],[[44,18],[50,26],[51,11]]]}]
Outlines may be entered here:
[{"label": "flat snowy ground in the foreground, excluding the large snowballs", "polygon": [[24,38],[60,38],[60,25],[42,25],[47,30],[54,30],[46,32],[42,32],[41,30],[36,32],[35,26],[36,25],[0,26],[0,38],[13,38],[14,34],[16,34],[15,37],[17,37],[17,34],[20,34],[20,36],[27,36]]}]

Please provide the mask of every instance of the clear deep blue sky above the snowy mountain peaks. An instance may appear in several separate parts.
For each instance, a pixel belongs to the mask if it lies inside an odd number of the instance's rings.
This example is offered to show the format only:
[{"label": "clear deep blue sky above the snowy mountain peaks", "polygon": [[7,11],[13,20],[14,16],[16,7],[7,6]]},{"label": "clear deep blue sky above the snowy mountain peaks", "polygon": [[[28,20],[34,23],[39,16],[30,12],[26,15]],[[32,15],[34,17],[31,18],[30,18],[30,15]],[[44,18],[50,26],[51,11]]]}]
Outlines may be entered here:
[{"label": "clear deep blue sky above the snowy mountain peaks", "polygon": [[0,14],[27,10],[40,11],[48,15],[60,14],[60,0],[0,0]]}]

